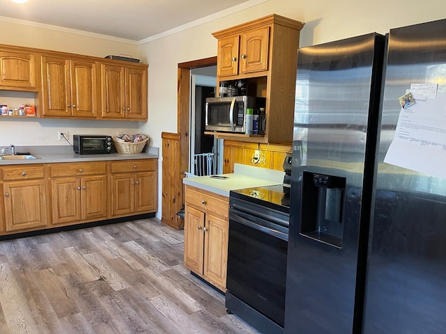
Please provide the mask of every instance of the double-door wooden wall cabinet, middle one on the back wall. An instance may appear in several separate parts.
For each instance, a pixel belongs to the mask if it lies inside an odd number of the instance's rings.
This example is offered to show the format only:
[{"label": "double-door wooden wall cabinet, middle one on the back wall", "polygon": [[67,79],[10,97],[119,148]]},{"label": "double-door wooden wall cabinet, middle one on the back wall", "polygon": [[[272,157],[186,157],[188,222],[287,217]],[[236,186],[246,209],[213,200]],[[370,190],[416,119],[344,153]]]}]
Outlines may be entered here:
[{"label": "double-door wooden wall cabinet, middle one on the back wall", "polygon": [[41,61],[43,116],[97,118],[96,63],[53,56]]}]

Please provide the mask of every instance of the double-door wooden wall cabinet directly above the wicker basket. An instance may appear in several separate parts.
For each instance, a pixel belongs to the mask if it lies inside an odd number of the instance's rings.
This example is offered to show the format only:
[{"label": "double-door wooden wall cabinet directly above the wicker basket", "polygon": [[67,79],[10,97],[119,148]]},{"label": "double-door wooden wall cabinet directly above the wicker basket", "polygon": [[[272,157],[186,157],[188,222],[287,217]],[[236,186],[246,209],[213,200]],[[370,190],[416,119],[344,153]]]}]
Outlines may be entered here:
[{"label": "double-door wooden wall cabinet directly above the wicker basket", "polygon": [[102,118],[147,120],[147,70],[101,65]]}]

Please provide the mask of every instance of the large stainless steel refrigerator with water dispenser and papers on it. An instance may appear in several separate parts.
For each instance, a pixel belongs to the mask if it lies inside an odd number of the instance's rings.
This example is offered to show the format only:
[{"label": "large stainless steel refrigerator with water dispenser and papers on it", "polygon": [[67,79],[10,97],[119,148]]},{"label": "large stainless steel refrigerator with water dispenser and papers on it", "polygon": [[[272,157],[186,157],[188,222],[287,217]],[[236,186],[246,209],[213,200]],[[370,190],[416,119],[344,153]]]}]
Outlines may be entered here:
[{"label": "large stainless steel refrigerator with water dispenser and papers on it", "polygon": [[446,333],[445,95],[445,19],[299,49],[285,333]]}]

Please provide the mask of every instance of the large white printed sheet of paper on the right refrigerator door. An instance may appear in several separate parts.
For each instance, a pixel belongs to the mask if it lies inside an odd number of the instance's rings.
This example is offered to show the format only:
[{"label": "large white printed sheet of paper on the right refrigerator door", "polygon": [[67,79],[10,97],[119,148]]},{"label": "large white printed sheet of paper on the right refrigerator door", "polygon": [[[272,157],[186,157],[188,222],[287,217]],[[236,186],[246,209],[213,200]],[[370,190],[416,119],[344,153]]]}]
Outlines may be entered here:
[{"label": "large white printed sheet of paper on the right refrigerator door", "polygon": [[415,101],[401,108],[384,162],[446,178],[446,93]]}]

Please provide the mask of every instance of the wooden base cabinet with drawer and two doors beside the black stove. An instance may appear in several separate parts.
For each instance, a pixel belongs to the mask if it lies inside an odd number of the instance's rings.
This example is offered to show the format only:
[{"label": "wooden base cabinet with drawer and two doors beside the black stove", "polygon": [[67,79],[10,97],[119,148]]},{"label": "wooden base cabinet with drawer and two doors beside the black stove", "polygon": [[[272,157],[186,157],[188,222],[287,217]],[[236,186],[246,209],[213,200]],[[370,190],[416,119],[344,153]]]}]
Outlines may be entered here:
[{"label": "wooden base cabinet with drawer and two doors beside the black stove", "polygon": [[229,199],[186,186],[184,263],[209,283],[226,291]]}]

